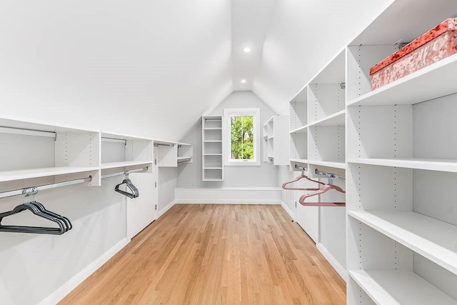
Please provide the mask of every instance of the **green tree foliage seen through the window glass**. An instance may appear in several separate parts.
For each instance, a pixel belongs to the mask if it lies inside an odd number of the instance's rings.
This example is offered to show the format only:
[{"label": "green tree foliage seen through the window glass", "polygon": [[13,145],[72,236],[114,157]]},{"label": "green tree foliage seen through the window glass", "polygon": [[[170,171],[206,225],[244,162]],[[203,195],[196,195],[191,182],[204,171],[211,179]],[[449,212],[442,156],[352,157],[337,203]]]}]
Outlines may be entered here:
[{"label": "green tree foliage seen through the window glass", "polygon": [[254,159],[253,116],[231,116],[231,159]]}]

